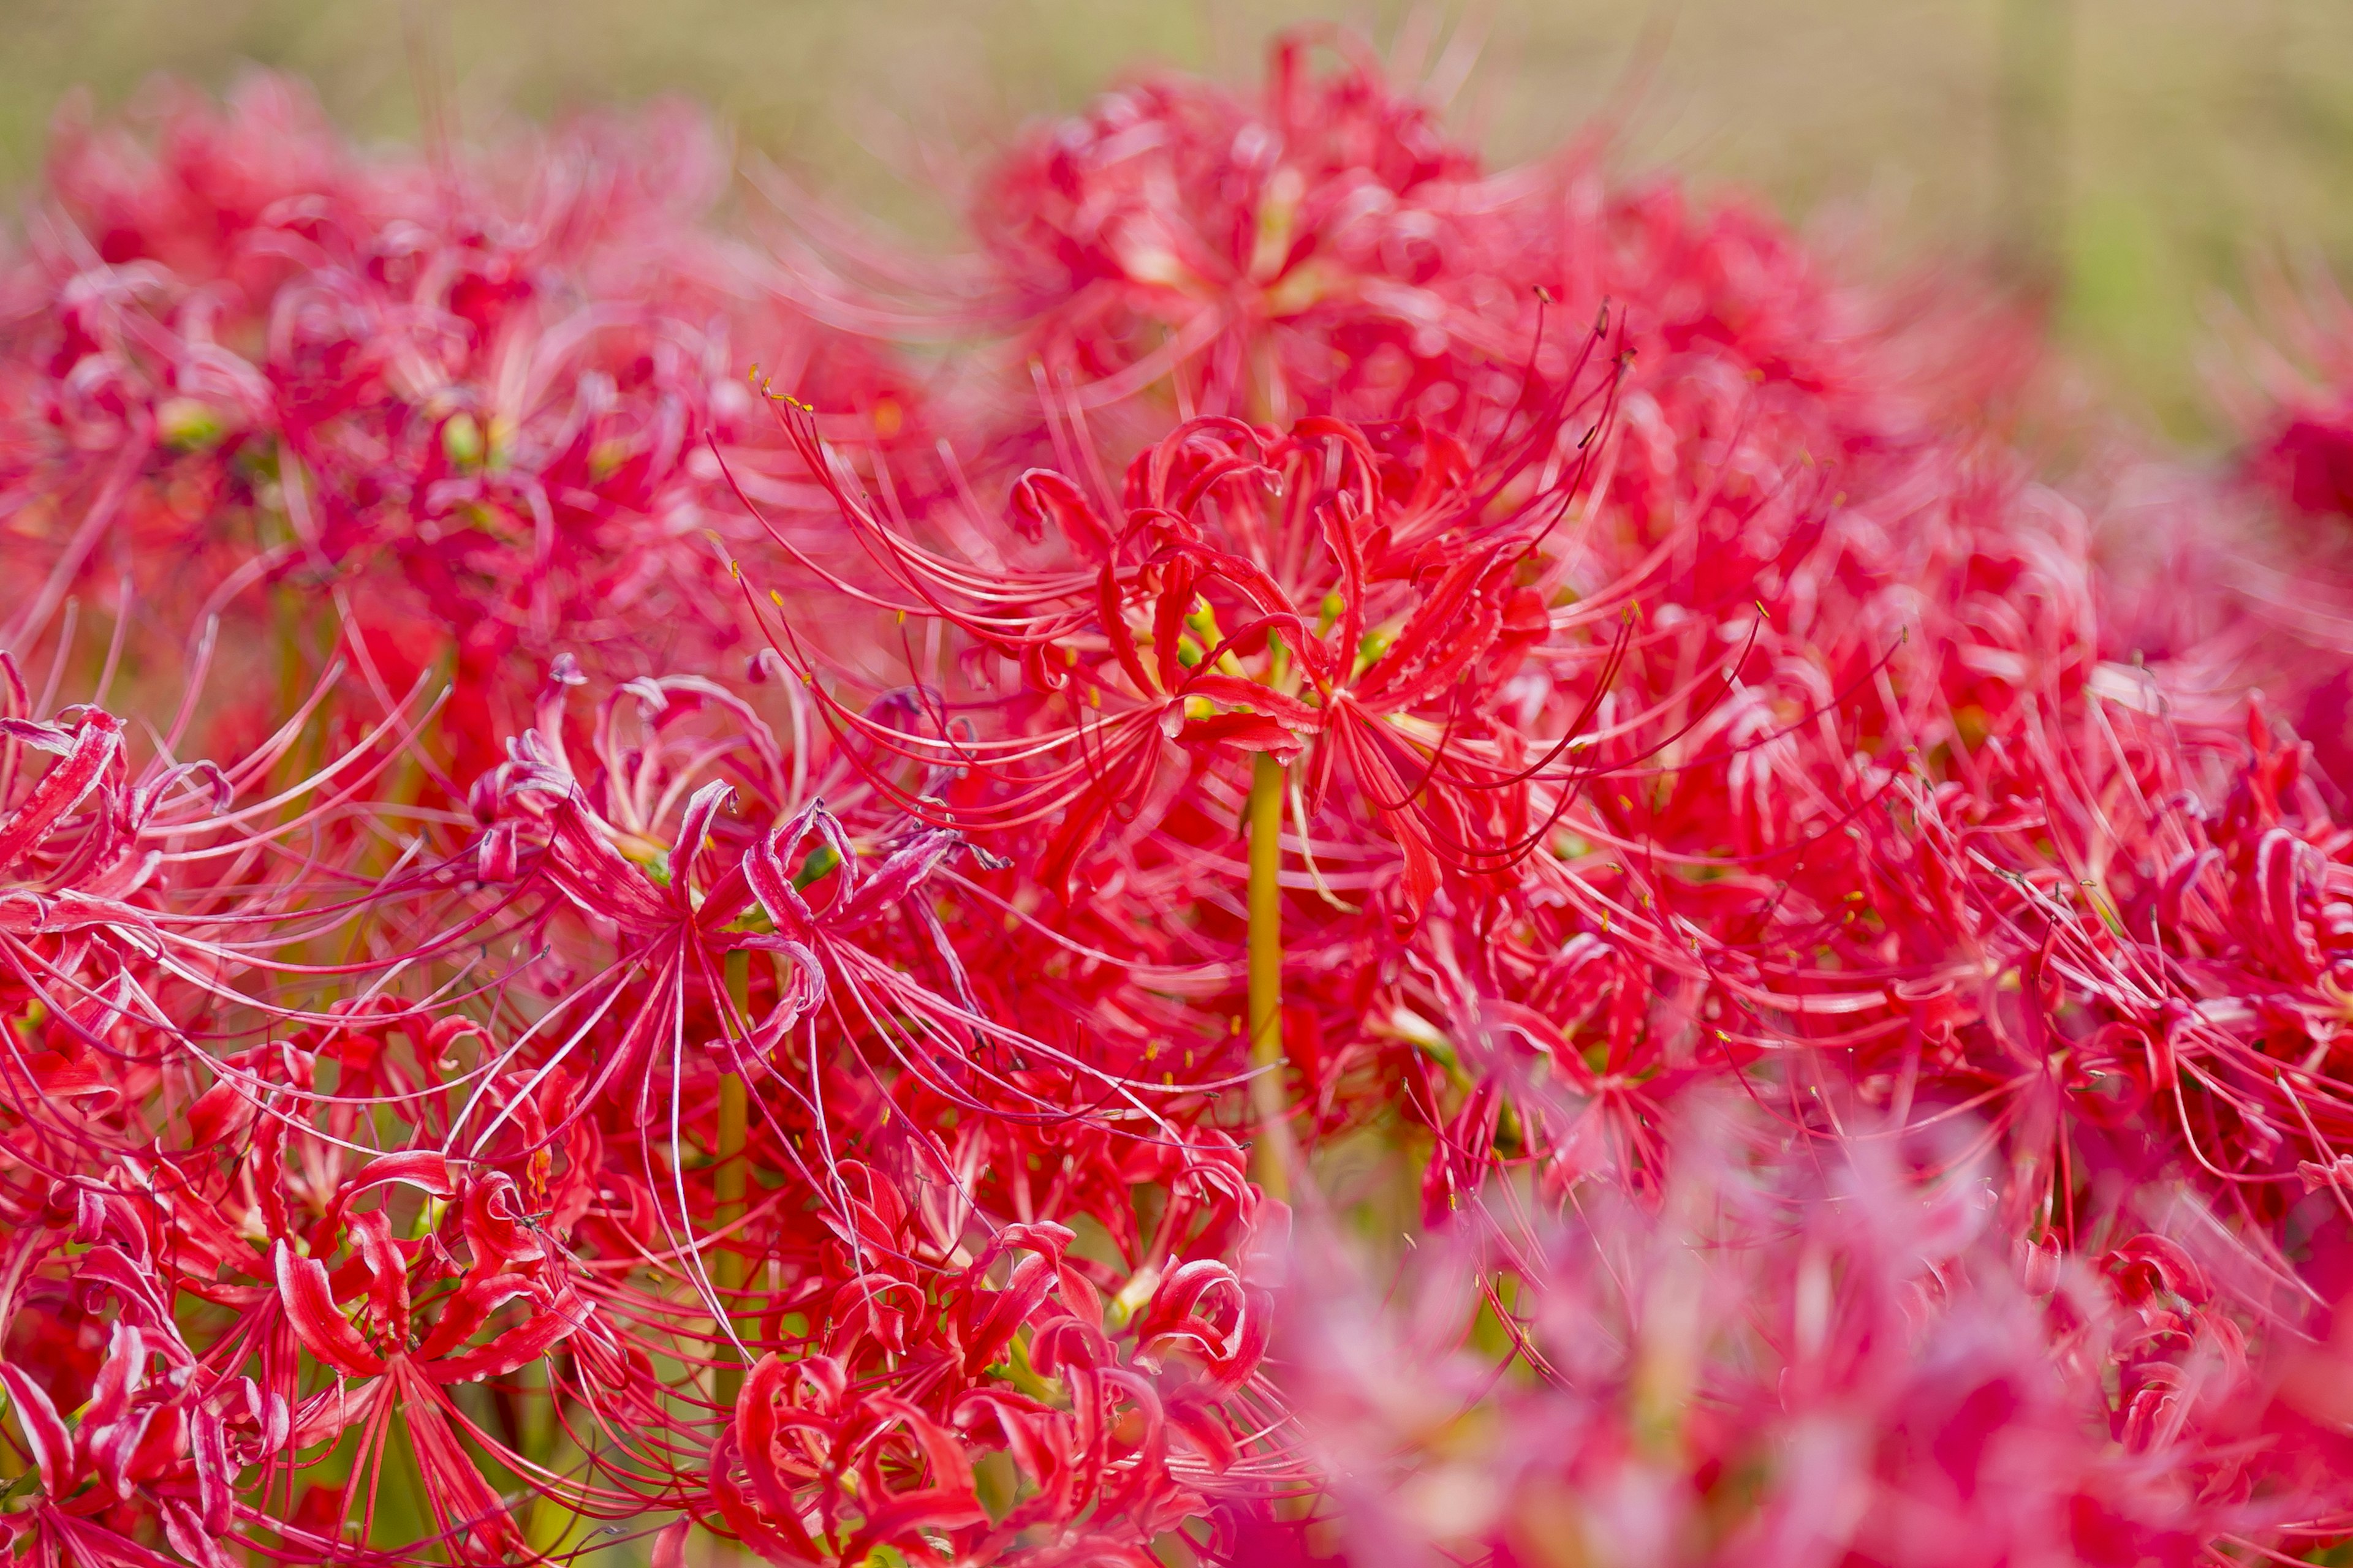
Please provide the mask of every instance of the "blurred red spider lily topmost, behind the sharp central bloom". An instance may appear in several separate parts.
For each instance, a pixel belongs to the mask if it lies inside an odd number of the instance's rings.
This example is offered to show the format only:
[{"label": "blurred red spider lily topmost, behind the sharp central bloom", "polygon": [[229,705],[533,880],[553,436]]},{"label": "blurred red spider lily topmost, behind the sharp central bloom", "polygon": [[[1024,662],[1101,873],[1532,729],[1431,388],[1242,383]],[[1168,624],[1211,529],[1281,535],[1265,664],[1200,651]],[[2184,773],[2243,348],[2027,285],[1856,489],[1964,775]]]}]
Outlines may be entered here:
[{"label": "blurred red spider lily topmost, behind the sharp central bloom", "polygon": [[[1024,139],[976,181],[981,254],[960,263],[878,252],[791,197],[779,287],[882,336],[981,336],[941,414],[1024,463],[1073,465],[1106,414],[1118,444],[1151,440],[1158,411],[1129,416],[1162,381],[1186,416],[1275,425],[1508,414],[1497,282],[1541,242],[1504,212],[1525,181],[1482,179],[1433,108],[1334,42],[1320,78],[1308,38],[1280,38],[1261,101],[1158,75]],[[1007,425],[1040,400],[1042,423]]]}]

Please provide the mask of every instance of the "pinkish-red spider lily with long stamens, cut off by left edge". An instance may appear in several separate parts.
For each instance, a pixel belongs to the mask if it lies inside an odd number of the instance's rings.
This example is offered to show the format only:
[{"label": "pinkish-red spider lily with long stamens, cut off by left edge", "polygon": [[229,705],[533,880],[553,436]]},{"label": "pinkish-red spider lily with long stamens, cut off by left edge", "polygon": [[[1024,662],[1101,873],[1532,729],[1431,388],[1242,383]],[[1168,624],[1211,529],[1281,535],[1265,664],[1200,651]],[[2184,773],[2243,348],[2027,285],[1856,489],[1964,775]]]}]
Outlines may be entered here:
[{"label": "pinkish-red spider lily with long stamens, cut off by left edge", "polygon": [[[0,682],[9,705],[31,705],[5,654]],[[24,1030],[0,1074],[19,1157],[151,1143],[139,1105],[169,1063],[301,1027],[353,976],[381,971],[365,940],[351,961],[315,961],[306,945],[365,922],[374,896],[431,882],[421,844],[407,867],[372,860],[367,809],[351,804],[414,741],[431,712],[416,698],[308,773],[301,722],[228,766],[134,766],[104,708],[0,717],[0,1016]],[[402,957],[426,961],[452,940],[431,922],[402,936]]]}]

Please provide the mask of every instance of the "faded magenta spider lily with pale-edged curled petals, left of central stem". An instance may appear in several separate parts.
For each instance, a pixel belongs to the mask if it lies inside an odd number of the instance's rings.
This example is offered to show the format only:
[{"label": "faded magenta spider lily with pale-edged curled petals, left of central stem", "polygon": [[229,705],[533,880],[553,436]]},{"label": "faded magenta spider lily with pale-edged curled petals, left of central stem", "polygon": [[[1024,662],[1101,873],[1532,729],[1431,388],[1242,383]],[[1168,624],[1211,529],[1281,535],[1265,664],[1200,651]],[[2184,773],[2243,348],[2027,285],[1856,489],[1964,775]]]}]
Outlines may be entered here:
[{"label": "faded magenta spider lily with pale-edged curled petals, left of central stem", "polygon": [[[1059,1063],[1108,1093],[1125,1093],[1118,1074],[1089,1070],[1054,1044],[972,1009],[939,914],[918,898],[934,870],[965,849],[958,835],[920,825],[906,832],[885,818],[882,832],[894,842],[868,872],[868,851],[831,809],[807,804],[786,816],[795,783],[765,722],[694,677],[635,682],[626,693],[647,708],[654,743],[647,750],[621,748],[614,715],[624,693],[614,693],[598,724],[600,766],[576,778],[560,738],[560,691],[551,686],[541,729],[518,743],[515,762],[478,790],[480,811],[496,813],[480,863],[499,879],[546,879],[614,933],[616,952],[602,983],[609,997],[631,987],[638,969],[647,971],[645,994],[633,992],[619,1009],[628,1020],[619,1048],[602,1056],[586,1098],[633,1084],[633,1103],[647,1112],[647,1067],[661,1037],[671,1037],[668,1070],[678,1074],[687,1009],[718,1009],[720,971],[732,952],[769,952],[779,964],[776,1001],[765,1018],[720,1020],[729,1034],[722,1063],[732,1072],[767,1065],[798,1023],[826,1011],[845,1037],[871,1037],[887,1060],[974,1110],[979,1100],[967,1086],[976,1072],[967,1060],[974,1044],[993,1056]],[[727,715],[736,733],[713,743],[673,731],[673,722],[696,708]],[[746,755],[741,790],[711,780],[687,795],[694,771],[729,752]],[[675,766],[664,766],[668,762]],[[795,752],[793,766],[807,769],[807,752]],[[673,811],[675,839],[664,820]],[[755,825],[762,818],[769,825]],[[824,886],[805,896],[819,882]],[[894,945],[946,964],[944,990],[915,983],[896,961],[866,950],[866,931],[885,919],[896,929]],[[1012,1079],[986,1070],[979,1077],[1019,1098]]]}]

